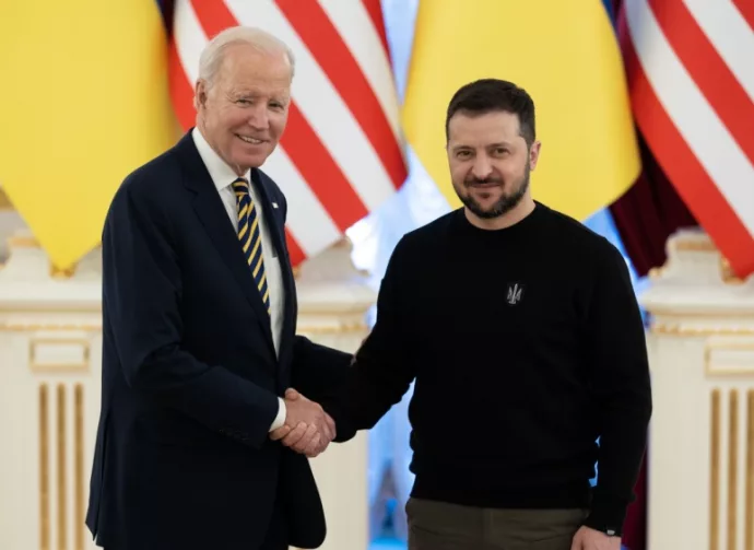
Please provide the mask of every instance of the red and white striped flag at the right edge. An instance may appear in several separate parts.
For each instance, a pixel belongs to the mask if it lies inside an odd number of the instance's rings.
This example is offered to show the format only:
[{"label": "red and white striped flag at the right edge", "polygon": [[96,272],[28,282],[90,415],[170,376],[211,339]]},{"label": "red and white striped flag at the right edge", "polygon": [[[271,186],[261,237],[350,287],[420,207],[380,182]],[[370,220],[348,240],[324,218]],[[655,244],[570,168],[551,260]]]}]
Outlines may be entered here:
[{"label": "red and white striped flag at the right edge", "polygon": [[625,0],[631,98],[652,153],[733,270],[754,272],[754,2]]}]

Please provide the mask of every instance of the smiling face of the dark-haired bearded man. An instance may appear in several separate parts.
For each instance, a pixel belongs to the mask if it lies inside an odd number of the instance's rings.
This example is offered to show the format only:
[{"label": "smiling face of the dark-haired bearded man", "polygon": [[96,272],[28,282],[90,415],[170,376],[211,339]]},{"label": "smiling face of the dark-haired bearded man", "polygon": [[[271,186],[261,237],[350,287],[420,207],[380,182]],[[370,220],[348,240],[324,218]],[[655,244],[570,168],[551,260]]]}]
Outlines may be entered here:
[{"label": "smiling face of the dark-haired bearded man", "polygon": [[540,143],[520,134],[518,115],[456,113],[448,121],[448,163],[456,194],[480,220],[502,218],[531,202],[529,173]]}]

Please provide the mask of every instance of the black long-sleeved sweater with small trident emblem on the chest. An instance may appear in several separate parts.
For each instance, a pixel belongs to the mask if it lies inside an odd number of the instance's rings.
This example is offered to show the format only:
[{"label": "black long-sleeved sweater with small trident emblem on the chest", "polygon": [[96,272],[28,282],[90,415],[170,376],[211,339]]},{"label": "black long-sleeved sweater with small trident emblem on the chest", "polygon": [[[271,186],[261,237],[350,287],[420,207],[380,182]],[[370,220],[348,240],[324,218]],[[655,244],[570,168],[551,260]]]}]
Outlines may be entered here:
[{"label": "black long-sleeved sweater with small trident emblem on the chest", "polygon": [[540,203],[498,231],[456,210],[401,239],[377,307],[347,387],[326,405],[339,440],[372,428],[415,378],[414,496],[590,507],[586,525],[621,533],[651,396],[615,247]]}]

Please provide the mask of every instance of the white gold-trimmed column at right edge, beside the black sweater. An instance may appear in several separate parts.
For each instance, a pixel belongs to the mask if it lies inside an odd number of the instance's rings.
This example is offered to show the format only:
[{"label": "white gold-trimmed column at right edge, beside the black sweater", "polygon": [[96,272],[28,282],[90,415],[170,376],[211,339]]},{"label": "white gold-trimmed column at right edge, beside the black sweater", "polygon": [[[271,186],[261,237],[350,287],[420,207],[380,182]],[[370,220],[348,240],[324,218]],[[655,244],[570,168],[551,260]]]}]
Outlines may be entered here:
[{"label": "white gold-trimmed column at right edge, beside the black sweater", "polygon": [[754,549],[754,279],[731,276],[703,233],[668,243],[641,296],[655,410],[650,550]]}]

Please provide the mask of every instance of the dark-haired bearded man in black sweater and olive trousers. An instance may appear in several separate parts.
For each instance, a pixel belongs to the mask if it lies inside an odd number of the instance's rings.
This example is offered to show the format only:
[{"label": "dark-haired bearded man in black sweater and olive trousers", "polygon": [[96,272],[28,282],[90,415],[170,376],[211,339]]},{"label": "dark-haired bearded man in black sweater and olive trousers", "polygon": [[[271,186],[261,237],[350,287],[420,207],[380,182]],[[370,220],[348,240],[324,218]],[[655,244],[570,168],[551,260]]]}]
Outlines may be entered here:
[{"label": "dark-haired bearded man in black sweater and olive trousers", "polygon": [[618,550],[651,413],[625,260],[532,199],[541,144],[523,90],[463,86],[446,131],[464,208],[398,244],[374,330],[322,403],[335,441],[374,426],[415,379],[412,550]]}]

